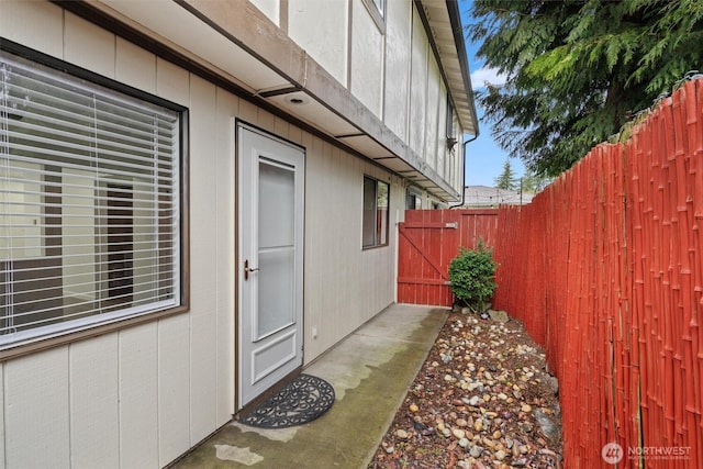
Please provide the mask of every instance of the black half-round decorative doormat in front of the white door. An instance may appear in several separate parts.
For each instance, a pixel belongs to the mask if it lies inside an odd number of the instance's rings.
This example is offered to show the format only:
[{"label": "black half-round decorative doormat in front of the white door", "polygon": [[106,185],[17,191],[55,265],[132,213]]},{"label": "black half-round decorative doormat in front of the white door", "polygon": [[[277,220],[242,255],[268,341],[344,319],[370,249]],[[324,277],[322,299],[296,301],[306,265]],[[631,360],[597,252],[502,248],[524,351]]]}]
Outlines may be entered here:
[{"label": "black half-round decorative doormat in front of the white door", "polygon": [[312,422],[334,404],[334,388],[324,379],[300,375],[261,405],[239,417],[245,425],[287,428]]}]

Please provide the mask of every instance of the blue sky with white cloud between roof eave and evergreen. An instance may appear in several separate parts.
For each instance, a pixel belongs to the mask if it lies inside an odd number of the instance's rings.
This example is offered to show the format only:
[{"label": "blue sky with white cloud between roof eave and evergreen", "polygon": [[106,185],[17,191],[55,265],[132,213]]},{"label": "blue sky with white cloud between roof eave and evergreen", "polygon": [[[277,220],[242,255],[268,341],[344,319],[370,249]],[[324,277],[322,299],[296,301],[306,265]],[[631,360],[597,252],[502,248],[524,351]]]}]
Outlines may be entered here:
[{"label": "blue sky with white cloud between roof eave and evergreen", "polygon": [[[459,0],[459,10],[461,12],[462,24],[469,24],[471,19],[469,10],[471,8],[470,0]],[[466,36],[466,34],[465,34]],[[503,82],[502,78],[495,70],[483,67],[483,63],[477,60],[476,52],[480,44],[473,44],[466,41],[467,55],[469,57],[469,71],[471,72],[471,83],[473,90],[484,88],[484,82],[489,81],[493,85]],[[466,153],[466,185],[467,186],[494,186],[494,179],[503,171],[503,165],[509,158],[506,152],[502,150],[491,137],[491,124],[482,121],[483,110],[478,105],[476,109],[479,116],[479,137],[467,144]],[[471,138],[466,135],[465,139]],[[525,172],[525,166],[520,158],[510,158],[510,166],[516,178]]]}]

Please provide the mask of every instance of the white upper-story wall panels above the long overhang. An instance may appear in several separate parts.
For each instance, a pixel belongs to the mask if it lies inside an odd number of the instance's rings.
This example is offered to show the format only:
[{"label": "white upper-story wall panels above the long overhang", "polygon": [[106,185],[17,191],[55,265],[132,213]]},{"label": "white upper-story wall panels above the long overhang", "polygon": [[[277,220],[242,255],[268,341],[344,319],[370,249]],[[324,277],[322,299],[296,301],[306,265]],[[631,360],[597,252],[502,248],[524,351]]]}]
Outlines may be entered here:
[{"label": "white upper-story wall panels above the long overhang", "polygon": [[414,2],[387,1],[380,26],[370,1],[252,3],[279,27],[277,15],[286,18],[283,32],[460,193],[454,176],[462,169],[461,147],[446,144],[447,88]]}]

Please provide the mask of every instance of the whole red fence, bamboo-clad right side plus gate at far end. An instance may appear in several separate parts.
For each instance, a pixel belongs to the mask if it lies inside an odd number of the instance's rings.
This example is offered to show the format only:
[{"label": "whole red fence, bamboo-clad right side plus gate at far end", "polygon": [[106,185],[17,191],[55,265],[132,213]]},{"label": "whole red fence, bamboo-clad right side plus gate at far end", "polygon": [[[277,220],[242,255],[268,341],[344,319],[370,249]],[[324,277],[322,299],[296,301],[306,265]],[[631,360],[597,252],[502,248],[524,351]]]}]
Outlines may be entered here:
[{"label": "whole red fence, bamboo-clad right side plus gate at far end", "polygon": [[449,305],[448,263],[482,236],[500,265],[495,308],[559,378],[565,467],[703,468],[703,80],[466,244],[451,213],[406,212],[399,301]]}]

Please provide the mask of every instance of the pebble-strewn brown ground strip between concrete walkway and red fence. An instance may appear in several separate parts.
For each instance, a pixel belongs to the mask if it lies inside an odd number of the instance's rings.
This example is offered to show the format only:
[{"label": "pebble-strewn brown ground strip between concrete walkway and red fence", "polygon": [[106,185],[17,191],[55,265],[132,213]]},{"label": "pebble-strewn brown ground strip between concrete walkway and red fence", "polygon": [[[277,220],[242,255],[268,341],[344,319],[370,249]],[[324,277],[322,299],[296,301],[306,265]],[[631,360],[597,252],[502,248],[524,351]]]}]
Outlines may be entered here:
[{"label": "pebble-strewn brown ground strip between concrete walkway and red fence", "polygon": [[505,319],[449,315],[369,469],[561,468],[558,382]]}]

